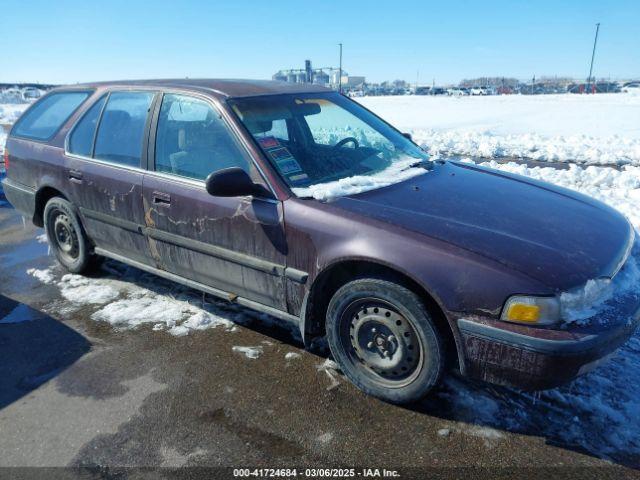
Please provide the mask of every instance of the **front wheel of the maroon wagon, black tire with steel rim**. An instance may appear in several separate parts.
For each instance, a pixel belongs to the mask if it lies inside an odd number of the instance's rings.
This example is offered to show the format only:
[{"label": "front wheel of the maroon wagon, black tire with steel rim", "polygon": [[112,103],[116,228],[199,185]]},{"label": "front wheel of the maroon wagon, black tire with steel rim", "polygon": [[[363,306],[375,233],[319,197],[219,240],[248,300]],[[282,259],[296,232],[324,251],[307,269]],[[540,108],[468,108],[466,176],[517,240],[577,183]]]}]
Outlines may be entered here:
[{"label": "front wheel of the maroon wagon, black tire with steel rim", "polygon": [[402,285],[376,278],[345,284],[329,302],[326,327],[333,357],[369,395],[411,403],[442,377],[438,329],[418,295]]}]

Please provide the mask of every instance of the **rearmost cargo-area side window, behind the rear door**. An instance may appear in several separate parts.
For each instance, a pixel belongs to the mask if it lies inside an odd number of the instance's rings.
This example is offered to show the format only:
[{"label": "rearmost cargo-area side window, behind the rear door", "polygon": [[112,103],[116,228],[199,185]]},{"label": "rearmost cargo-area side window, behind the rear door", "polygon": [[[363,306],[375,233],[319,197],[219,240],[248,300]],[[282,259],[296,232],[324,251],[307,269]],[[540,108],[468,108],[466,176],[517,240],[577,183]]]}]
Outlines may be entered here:
[{"label": "rearmost cargo-area side window, behind the rear door", "polygon": [[18,120],[12,135],[34,140],[50,139],[90,92],[59,92],[47,95]]}]

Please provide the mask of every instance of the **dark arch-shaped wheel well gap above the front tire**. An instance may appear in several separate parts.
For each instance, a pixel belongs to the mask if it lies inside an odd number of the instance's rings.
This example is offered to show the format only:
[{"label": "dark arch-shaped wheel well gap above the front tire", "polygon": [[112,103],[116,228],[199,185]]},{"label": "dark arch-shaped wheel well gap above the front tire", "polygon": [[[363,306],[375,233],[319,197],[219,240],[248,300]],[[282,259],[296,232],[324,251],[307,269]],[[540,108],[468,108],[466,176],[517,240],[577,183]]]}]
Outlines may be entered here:
[{"label": "dark arch-shaped wheel well gap above the front tire", "polygon": [[345,283],[364,276],[395,281],[416,293],[432,313],[434,322],[443,335],[448,353],[453,354],[453,357],[460,357],[457,332],[447,320],[440,302],[424,285],[406,272],[383,262],[358,258],[336,261],[315,277],[302,308],[300,333],[305,345],[311,345],[315,338],[325,335],[327,307],[335,292]]}]

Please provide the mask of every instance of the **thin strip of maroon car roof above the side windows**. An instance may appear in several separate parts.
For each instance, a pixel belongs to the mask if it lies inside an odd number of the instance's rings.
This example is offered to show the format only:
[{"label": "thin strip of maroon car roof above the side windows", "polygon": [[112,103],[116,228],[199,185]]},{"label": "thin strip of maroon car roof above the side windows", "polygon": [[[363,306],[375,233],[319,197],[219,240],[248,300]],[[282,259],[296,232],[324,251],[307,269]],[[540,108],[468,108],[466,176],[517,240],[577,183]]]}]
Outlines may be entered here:
[{"label": "thin strip of maroon car roof above the side windows", "polygon": [[119,80],[113,82],[93,82],[76,85],[66,85],[61,89],[98,88],[111,87],[159,87],[175,88],[180,90],[207,91],[223,97],[254,97],[258,95],[276,95],[283,93],[319,93],[332,90],[309,83],[288,83],[273,80],[241,80],[241,79],[211,79],[211,78],[178,78],[158,80]]}]

